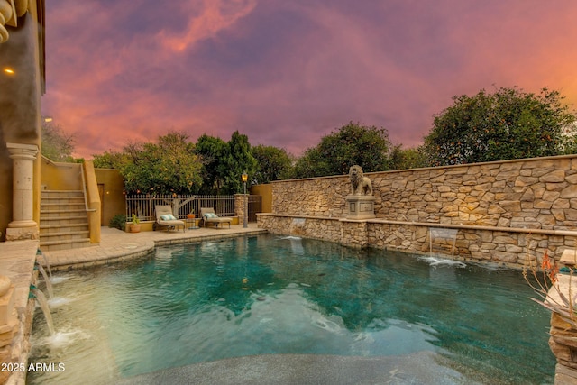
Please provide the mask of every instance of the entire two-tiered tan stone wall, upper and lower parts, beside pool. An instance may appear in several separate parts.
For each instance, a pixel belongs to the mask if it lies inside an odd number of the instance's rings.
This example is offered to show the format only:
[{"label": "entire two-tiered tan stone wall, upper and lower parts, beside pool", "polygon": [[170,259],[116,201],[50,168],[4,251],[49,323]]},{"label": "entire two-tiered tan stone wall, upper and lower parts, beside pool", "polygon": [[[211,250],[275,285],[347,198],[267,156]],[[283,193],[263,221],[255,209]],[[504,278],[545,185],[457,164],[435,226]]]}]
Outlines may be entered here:
[{"label": "entire two-tiered tan stone wall, upper and lower parts, beside pool", "polygon": [[[343,219],[348,176],[272,183],[272,213],[259,225],[354,246],[453,252],[432,227],[457,229],[460,259],[522,266],[547,250],[560,256],[577,239],[577,156],[366,173],[375,219]],[[433,242],[431,242],[433,241]]]}]

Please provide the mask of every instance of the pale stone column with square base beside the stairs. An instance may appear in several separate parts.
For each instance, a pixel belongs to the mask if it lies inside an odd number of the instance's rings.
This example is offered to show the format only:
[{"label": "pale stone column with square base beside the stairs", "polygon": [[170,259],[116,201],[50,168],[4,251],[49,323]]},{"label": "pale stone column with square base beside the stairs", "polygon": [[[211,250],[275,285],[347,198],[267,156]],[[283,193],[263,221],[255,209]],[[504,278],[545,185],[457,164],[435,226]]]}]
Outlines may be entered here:
[{"label": "pale stone column with square base beside the stairs", "polygon": [[6,229],[6,241],[38,239],[38,224],[33,218],[35,144],[6,143],[13,162],[12,222]]}]

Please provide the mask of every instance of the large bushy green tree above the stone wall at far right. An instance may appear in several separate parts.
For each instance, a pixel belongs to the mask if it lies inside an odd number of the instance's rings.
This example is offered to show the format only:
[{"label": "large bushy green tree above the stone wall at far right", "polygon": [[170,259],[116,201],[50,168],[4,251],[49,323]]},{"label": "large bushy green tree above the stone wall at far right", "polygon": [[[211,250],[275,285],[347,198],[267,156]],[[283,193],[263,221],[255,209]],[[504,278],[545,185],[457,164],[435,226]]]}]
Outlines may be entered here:
[{"label": "large bushy green tree above the stone wall at far right", "polygon": [[517,88],[482,89],[475,96],[453,96],[453,105],[434,116],[425,138],[430,164],[450,165],[563,153],[563,127],[575,115],[563,96],[544,88],[539,95]]}]

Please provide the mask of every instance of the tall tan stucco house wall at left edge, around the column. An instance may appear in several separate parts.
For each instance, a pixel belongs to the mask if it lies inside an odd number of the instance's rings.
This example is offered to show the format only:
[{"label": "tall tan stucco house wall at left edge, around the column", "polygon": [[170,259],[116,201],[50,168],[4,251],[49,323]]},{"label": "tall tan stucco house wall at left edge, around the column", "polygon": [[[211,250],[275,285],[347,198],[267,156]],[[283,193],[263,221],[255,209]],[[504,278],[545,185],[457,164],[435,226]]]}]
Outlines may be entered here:
[{"label": "tall tan stucco house wall at left edge, around the column", "polygon": [[[13,160],[6,143],[41,146],[41,92],[43,60],[36,7],[39,1],[0,0],[10,5],[20,17],[14,23],[5,20],[3,28],[9,39],[0,43],[0,241],[5,241],[5,229],[13,221]],[[40,2],[41,3],[41,2]],[[28,11],[28,12],[27,12]],[[7,13],[6,13],[7,14]],[[5,19],[5,17],[3,16]],[[33,220],[40,219],[41,160],[33,165]]]}]

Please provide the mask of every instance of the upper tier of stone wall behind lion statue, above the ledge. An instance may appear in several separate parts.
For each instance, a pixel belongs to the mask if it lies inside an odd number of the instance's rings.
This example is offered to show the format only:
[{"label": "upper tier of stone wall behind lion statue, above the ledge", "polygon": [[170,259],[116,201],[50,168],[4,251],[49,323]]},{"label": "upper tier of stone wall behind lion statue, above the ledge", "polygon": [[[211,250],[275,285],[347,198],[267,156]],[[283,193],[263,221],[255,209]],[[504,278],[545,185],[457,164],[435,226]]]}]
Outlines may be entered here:
[{"label": "upper tier of stone wall behind lion statue, above the ledge", "polygon": [[[393,221],[577,228],[577,156],[371,172],[375,213]],[[343,217],[348,176],[272,183],[272,213]]]}]

